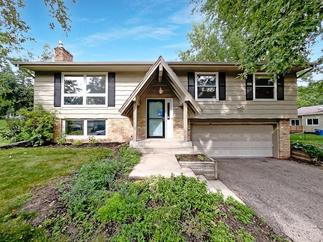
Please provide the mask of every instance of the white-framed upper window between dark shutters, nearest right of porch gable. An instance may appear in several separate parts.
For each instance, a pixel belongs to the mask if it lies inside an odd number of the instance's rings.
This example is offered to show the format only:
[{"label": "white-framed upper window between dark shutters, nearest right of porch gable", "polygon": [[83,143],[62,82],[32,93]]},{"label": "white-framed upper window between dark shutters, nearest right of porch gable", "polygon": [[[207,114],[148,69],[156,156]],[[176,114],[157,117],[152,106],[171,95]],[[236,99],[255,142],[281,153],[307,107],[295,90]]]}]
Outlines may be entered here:
[{"label": "white-framed upper window between dark shutters, nearest right of porch gable", "polygon": [[219,100],[219,75],[217,72],[196,72],[195,87],[196,100]]}]

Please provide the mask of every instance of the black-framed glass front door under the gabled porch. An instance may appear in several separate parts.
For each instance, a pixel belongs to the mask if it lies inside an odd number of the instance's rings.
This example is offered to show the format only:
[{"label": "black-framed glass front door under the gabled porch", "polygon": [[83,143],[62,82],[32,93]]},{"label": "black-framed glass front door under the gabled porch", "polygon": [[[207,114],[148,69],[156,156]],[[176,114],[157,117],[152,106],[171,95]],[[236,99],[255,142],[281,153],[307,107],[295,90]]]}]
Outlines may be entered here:
[{"label": "black-framed glass front door under the gabled porch", "polygon": [[147,100],[147,136],[165,138],[165,100]]}]

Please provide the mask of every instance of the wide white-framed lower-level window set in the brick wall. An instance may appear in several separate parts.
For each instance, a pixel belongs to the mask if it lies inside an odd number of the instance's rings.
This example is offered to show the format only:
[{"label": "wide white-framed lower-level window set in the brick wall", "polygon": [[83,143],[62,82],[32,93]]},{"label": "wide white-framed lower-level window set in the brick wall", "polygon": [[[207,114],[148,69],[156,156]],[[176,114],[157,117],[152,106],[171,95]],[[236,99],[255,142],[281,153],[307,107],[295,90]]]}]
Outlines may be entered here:
[{"label": "wide white-framed lower-level window set in the brick wall", "polygon": [[67,137],[89,137],[101,138],[106,136],[106,122],[100,119],[71,119],[65,120],[64,130]]}]

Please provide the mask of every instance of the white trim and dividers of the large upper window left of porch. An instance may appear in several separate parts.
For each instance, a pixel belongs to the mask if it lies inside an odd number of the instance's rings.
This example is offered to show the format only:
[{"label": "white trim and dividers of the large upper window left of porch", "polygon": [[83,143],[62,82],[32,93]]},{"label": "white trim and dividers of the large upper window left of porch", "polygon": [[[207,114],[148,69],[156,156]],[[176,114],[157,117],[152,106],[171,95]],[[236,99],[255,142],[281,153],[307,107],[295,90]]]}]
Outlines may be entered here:
[{"label": "white trim and dividers of the large upper window left of porch", "polygon": [[[64,76],[65,75],[83,75],[83,85],[82,85],[82,89],[83,89],[83,93],[64,93]],[[105,103],[104,105],[87,105],[86,104],[86,97],[87,96],[91,96],[91,97],[103,97],[102,94],[100,93],[86,93],[86,75],[105,75]],[[107,93],[109,91],[109,87],[107,86],[108,82],[108,73],[107,72],[63,72],[62,73],[62,90],[61,90],[61,103],[62,103],[62,107],[107,107]],[[88,94],[88,95],[87,95]],[[83,104],[82,105],[67,105],[64,104],[64,98],[65,97],[83,97]]]}]

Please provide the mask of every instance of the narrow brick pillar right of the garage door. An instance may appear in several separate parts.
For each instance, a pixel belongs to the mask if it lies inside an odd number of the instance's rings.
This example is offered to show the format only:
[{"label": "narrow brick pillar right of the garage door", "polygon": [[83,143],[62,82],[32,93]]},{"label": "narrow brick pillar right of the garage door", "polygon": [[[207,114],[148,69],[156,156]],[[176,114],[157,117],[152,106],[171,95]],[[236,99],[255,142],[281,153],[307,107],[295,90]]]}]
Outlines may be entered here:
[{"label": "narrow brick pillar right of the garage door", "polygon": [[287,159],[291,156],[289,119],[281,119],[279,128],[279,158]]}]

